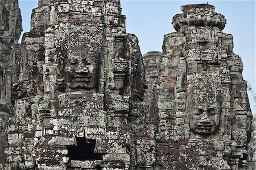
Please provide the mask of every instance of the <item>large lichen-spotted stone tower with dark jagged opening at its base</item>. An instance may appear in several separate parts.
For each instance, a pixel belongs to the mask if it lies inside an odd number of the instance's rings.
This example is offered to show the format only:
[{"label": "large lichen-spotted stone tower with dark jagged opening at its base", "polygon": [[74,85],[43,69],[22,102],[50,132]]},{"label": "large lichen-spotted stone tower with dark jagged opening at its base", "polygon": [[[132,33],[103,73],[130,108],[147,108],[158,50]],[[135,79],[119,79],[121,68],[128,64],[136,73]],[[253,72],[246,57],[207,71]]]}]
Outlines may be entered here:
[{"label": "large lichen-spotted stone tower with dark jagged opening at its base", "polygon": [[130,167],[144,65],[119,0],[39,1],[15,63],[11,169]]}]

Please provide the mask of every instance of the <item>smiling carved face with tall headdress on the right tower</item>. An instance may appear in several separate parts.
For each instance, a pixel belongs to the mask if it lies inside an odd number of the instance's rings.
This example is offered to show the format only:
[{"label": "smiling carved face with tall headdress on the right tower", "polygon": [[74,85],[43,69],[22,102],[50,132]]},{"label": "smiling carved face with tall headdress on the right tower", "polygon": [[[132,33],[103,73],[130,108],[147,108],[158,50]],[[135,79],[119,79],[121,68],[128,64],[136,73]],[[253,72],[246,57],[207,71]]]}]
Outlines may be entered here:
[{"label": "smiling carved face with tall headdress on the right tower", "polygon": [[189,128],[194,134],[210,135],[220,125],[220,88],[212,80],[199,80],[191,86],[187,98]]}]

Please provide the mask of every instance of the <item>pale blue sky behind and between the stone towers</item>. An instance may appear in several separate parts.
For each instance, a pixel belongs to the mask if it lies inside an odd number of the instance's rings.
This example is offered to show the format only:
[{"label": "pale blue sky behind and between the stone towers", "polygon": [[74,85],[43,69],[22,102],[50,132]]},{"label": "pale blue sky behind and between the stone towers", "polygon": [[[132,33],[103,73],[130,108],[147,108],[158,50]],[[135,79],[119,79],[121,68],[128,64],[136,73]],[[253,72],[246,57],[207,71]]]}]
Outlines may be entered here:
[{"label": "pale blue sky behind and between the stone towers", "polygon": [[[139,39],[141,52],[162,51],[163,36],[175,32],[172,17],[180,14],[180,6],[209,3],[227,20],[223,32],[234,37],[234,53],[243,61],[243,78],[255,93],[255,1],[131,1],[121,0],[122,14],[126,15],[126,30]],[[32,9],[37,0],[19,0],[23,18],[23,32],[30,30]],[[249,92],[251,110],[255,114],[253,96]]]}]

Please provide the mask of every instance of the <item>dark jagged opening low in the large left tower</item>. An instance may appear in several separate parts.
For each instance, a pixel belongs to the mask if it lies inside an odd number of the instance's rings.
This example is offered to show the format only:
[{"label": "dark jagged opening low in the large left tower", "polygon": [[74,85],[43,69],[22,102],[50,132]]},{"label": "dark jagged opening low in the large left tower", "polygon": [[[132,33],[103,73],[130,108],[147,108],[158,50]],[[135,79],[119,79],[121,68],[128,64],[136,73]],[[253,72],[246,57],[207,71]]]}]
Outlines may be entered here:
[{"label": "dark jagged opening low in the large left tower", "polygon": [[71,160],[102,160],[102,154],[94,152],[96,140],[76,138],[77,146],[67,146]]}]

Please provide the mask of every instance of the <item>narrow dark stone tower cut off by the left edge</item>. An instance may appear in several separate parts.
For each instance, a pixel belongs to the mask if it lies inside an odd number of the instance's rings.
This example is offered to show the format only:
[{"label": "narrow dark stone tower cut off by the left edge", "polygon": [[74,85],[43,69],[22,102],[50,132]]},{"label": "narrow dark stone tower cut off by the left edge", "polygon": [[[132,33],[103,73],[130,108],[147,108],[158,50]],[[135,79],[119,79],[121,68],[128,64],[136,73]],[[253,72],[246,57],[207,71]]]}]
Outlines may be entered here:
[{"label": "narrow dark stone tower cut off by the left edge", "polygon": [[6,163],[7,129],[14,115],[11,103],[13,61],[22,31],[21,16],[16,0],[0,1],[0,168]]}]

